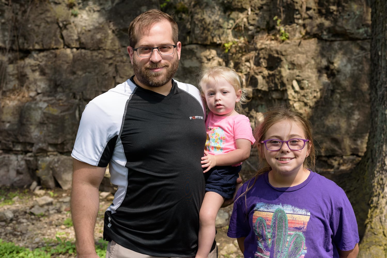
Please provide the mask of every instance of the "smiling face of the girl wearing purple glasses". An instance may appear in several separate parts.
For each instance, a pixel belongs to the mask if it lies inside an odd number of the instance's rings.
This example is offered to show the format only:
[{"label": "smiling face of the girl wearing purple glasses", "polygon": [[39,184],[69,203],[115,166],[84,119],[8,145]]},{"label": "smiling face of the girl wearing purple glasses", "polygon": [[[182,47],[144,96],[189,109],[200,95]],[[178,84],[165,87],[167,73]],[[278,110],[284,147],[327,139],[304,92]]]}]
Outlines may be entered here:
[{"label": "smiling face of the girl wearing purple glasses", "polygon": [[[269,127],[264,140],[279,139],[281,141],[287,141],[295,138],[306,139],[303,128],[297,122],[283,120]],[[305,143],[304,148],[298,151],[289,149],[286,143],[283,143],[281,149],[278,151],[269,151],[265,148],[265,144],[262,144],[262,148],[264,148],[266,161],[272,170],[284,176],[303,171],[304,160],[310,152],[308,143]]]}]

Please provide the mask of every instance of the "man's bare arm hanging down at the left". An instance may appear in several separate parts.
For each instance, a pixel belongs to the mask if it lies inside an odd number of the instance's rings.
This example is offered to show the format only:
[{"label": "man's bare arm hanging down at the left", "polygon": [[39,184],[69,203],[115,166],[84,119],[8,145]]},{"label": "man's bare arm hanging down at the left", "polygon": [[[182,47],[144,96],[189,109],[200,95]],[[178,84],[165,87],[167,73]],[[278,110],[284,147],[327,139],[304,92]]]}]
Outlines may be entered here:
[{"label": "man's bare arm hanging down at the left", "polygon": [[99,210],[98,189],[105,170],[74,159],[70,205],[77,258],[98,258],[94,245],[94,227]]}]

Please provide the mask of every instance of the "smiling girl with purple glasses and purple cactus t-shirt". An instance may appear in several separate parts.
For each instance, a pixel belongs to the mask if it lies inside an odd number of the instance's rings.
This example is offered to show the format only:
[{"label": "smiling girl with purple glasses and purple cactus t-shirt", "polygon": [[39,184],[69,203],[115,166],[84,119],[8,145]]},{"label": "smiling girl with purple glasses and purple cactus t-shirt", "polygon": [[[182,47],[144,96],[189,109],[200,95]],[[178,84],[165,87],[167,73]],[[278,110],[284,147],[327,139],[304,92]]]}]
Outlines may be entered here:
[{"label": "smiling girl with purple glasses and purple cactus t-shirt", "polygon": [[264,168],[238,190],[227,233],[245,258],[357,256],[358,227],[346,194],[310,170],[311,131],[289,107],[266,112],[255,128]]}]

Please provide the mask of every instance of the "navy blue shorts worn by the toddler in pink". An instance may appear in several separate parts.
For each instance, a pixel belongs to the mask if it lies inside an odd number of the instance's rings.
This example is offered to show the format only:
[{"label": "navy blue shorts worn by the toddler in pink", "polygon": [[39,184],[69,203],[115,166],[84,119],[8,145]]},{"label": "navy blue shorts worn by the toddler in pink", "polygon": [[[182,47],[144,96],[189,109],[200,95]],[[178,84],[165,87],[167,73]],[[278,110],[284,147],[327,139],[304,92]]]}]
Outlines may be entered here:
[{"label": "navy blue shorts worn by the toddler in pink", "polygon": [[214,166],[204,173],[205,190],[216,192],[226,199],[235,193],[236,179],[242,166]]}]

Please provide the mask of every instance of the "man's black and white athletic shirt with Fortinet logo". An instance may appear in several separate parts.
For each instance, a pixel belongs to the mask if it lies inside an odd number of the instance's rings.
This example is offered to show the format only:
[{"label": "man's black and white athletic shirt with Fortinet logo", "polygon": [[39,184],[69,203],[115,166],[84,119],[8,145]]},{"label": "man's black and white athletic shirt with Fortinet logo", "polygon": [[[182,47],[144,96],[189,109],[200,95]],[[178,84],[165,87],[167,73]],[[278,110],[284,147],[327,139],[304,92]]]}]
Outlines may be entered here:
[{"label": "man's black and white athletic shirt with Fortinet logo", "polygon": [[172,81],[161,95],[133,77],[86,105],[72,156],[106,167],[118,186],[104,239],[152,256],[195,256],[206,140],[199,90]]}]

